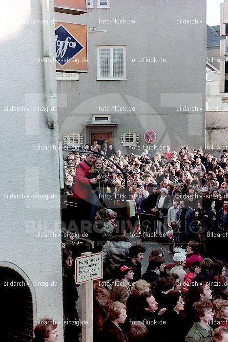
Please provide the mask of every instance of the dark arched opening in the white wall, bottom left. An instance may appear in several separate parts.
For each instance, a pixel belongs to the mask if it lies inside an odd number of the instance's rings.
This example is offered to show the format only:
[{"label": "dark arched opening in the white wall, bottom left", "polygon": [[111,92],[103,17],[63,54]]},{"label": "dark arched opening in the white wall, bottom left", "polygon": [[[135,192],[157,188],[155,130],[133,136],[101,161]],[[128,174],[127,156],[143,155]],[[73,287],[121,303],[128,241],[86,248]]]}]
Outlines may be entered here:
[{"label": "dark arched opening in the white wall, bottom left", "polygon": [[33,337],[33,299],[28,282],[15,270],[0,267],[1,294],[5,302],[3,341],[31,341]]}]

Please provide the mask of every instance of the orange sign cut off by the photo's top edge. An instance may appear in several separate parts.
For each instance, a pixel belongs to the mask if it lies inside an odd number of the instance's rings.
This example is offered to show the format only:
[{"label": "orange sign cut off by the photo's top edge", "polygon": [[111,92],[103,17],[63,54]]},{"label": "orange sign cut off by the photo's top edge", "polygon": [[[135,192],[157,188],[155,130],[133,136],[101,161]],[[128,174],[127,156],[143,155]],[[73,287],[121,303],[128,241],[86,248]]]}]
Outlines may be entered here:
[{"label": "orange sign cut off by the photo's top edge", "polygon": [[55,0],[55,11],[69,14],[86,13],[86,0]]}]

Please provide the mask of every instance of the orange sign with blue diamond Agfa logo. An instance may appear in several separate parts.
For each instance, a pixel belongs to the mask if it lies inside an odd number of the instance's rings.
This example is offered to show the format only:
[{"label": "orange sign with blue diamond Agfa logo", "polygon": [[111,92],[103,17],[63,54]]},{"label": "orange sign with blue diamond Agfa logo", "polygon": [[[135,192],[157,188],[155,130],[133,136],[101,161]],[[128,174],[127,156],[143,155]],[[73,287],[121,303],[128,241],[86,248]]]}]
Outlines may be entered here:
[{"label": "orange sign with blue diamond Agfa logo", "polygon": [[87,27],[86,25],[57,22],[56,71],[87,72]]}]

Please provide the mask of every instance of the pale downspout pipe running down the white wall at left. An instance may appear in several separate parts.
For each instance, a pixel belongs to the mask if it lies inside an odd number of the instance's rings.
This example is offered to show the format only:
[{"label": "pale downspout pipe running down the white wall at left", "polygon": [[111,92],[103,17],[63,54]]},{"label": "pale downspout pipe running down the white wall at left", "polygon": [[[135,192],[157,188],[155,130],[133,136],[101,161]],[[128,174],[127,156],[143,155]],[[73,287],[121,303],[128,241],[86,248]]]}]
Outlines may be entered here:
[{"label": "pale downspout pipe running down the white wall at left", "polygon": [[42,19],[43,19],[43,63],[45,79],[45,100],[47,124],[51,129],[55,128],[55,96],[53,94],[53,75],[52,75],[52,57],[51,53],[51,20],[50,20],[50,0],[42,1]]}]

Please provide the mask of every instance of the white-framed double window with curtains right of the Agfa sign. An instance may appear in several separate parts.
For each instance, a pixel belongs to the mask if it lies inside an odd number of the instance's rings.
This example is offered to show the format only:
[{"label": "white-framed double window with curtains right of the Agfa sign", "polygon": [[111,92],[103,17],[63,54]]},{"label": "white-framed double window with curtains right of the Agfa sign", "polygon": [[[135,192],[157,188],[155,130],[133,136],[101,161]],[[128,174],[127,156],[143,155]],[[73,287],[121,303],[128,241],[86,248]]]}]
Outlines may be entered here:
[{"label": "white-framed double window with curtains right of the Agfa sign", "polygon": [[97,80],[126,80],[126,46],[97,47]]}]

